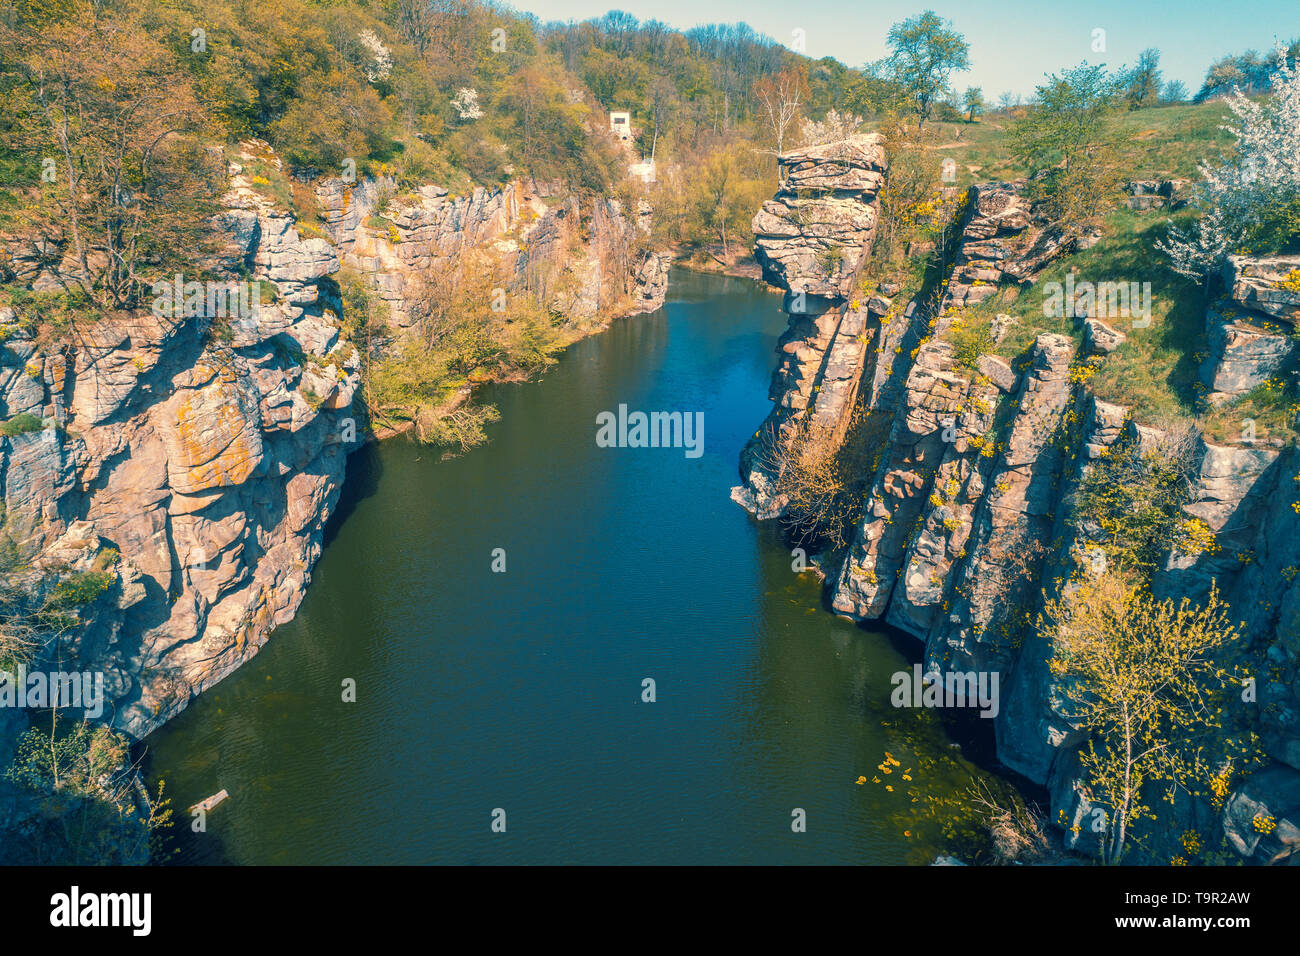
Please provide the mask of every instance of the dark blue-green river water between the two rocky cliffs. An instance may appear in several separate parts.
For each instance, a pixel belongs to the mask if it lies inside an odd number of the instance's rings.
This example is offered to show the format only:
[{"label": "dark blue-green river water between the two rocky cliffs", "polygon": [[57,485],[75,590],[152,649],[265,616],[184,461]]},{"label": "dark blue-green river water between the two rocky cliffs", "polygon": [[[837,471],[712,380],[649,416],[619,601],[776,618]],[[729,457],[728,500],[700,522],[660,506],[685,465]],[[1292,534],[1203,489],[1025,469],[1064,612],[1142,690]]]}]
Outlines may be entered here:
[{"label": "dark blue-green river water between the two rocky cliffs", "polygon": [[[178,808],[230,792],[204,834],[182,813],[177,860],[932,860],[909,788],[952,797],[970,767],[889,705],[913,649],[827,613],[728,498],[768,410],[777,304],[677,272],[659,312],[488,390],[490,445],[354,455],[298,618],[146,741]],[[620,403],[703,412],[703,454],[597,447]]]}]

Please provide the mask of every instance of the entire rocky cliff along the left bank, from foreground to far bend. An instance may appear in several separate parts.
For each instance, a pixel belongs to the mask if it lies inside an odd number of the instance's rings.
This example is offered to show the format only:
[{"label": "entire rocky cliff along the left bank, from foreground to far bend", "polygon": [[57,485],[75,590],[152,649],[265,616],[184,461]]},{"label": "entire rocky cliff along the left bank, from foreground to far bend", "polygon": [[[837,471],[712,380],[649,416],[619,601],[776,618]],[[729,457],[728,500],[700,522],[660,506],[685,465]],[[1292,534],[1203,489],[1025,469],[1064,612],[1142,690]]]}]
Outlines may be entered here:
[{"label": "entire rocky cliff along the left bank, from foreground to far bend", "polygon": [[[520,282],[543,265],[578,276],[558,307],[584,315],[650,311],[667,290],[667,259],[632,251],[647,209],[597,203],[580,235],[576,200],[426,186],[386,209],[390,230],[367,221],[391,182],[333,181],[316,186],[322,237],[256,189],[248,148],[265,157],[250,144],[230,163],[214,222],[226,250],[195,264],[198,299],[191,277],[161,277],[161,307],[155,290],[150,311],[70,334],[0,310],[0,493],[21,588],[40,606],[69,575],[96,583],[44,663],[103,672],[104,719],[136,739],[255,654],[303,598],[347,454],[365,440],[332,278],[342,263],[390,302],[395,330],[410,284],[472,247]],[[21,252],[9,261],[30,287],[52,287]],[[212,310],[211,276],[244,298]]]}]

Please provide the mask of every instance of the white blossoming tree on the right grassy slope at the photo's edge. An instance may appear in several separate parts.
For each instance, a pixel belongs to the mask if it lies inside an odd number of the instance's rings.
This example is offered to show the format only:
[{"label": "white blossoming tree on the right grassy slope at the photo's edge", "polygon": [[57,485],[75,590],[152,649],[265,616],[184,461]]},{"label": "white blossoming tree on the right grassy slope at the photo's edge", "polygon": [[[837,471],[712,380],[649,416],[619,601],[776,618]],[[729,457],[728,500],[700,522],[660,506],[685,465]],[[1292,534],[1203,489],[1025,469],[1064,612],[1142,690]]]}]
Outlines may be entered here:
[{"label": "white blossoming tree on the right grassy slope at the photo's edge", "polygon": [[1256,101],[1235,90],[1227,100],[1238,118],[1236,156],[1200,166],[1204,211],[1191,229],[1170,229],[1157,242],[1173,269],[1206,281],[1234,251],[1277,251],[1300,241],[1300,68],[1278,49],[1273,96]]}]

